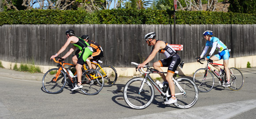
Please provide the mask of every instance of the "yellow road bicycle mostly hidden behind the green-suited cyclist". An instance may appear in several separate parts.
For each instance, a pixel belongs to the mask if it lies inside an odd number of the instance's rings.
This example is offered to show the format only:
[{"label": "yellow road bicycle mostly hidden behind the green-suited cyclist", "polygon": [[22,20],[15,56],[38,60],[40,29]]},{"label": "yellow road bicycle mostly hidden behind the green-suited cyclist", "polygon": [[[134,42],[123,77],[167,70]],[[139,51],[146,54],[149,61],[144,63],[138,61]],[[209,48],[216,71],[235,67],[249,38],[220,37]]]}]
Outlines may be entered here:
[{"label": "yellow road bicycle mostly hidden behind the green-suited cyclist", "polygon": [[[117,81],[117,71],[116,71],[116,69],[114,67],[110,66],[110,65],[101,66],[99,64],[99,63],[102,63],[102,61],[100,59],[98,60],[98,62],[93,61],[91,63],[95,64],[96,65],[96,70],[99,71],[102,74],[102,76],[104,78],[104,85],[103,86],[104,87],[113,86],[113,84]],[[89,67],[88,67],[87,63],[85,63],[83,65],[82,69],[83,69],[83,71],[89,70]],[[75,70],[74,65],[68,67],[68,70],[71,70],[72,72],[74,72],[73,73],[74,75],[76,74],[76,70]],[[96,74],[96,75],[98,75],[98,74]],[[98,76],[98,77],[100,77],[100,76]],[[102,85],[102,83],[100,82],[99,85]]]}]

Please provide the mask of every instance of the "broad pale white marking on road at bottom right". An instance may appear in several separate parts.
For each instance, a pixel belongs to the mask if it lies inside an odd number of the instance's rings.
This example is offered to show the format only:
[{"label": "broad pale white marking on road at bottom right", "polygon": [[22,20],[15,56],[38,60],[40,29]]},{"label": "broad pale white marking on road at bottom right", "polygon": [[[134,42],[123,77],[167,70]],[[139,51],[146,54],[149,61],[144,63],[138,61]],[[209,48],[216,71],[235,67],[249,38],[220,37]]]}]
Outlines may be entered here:
[{"label": "broad pale white marking on road at bottom right", "polygon": [[256,99],[133,116],[122,119],[228,119],[256,108]]}]

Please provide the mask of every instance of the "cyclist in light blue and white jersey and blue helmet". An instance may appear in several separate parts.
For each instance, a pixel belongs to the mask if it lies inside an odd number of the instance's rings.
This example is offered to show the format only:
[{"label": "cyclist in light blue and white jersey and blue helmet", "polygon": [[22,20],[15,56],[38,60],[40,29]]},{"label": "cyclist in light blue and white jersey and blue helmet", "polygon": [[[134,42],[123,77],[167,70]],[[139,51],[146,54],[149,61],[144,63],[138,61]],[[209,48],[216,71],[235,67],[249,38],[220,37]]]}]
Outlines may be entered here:
[{"label": "cyclist in light blue and white jersey and blue helmet", "polygon": [[[205,40],[207,40],[207,42],[206,42],[205,48],[203,49],[203,52],[202,52],[200,58],[202,58],[206,54],[209,47],[212,47],[209,55],[207,55],[205,60],[211,59],[213,61],[218,61],[218,60],[223,59],[224,70],[226,71],[226,76],[227,76],[227,82],[224,84],[224,86],[229,87],[230,86],[230,71],[229,71],[228,66],[229,66],[230,50],[217,37],[212,37],[212,34],[213,34],[213,32],[210,30],[203,32],[203,36],[204,36]],[[215,49],[218,51],[218,54],[212,56]],[[218,65],[212,65],[212,66],[217,68],[220,71],[220,73],[222,73],[223,70]]]}]

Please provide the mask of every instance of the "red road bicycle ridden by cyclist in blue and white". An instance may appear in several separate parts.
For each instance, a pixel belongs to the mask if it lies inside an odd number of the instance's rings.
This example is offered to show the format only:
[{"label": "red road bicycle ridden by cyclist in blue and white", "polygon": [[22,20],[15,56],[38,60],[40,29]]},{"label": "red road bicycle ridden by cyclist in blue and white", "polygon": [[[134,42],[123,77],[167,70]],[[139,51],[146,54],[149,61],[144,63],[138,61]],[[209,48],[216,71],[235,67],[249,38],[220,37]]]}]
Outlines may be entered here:
[{"label": "red road bicycle ridden by cyclist in blue and white", "polygon": [[[200,62],[200,60],[204,60],[204,59],[205,59],[205,57],[196,58],[196,60],[201,64],[203,64],[203,63]],[[224,86],[225,82],[227,81],[225,70],[223,71],[223,73],[221,75],[218,76],[211,69],[211,67],[208,66],[209,64],[224,66],[223,64],[213,63],[213,61],[211,59],[209,59],[209,60],[207,60],[205,68],[200,68],[200,69],[196,70],[195,74],[193,75],[193,81],[195,82],[198,90],[200,90],[201,92],[209,92],[214,86],[214,82],[215,82],[214,75],[218,78],[219,85],[226,88]],[[244,86],[244,76],[243,76],[242,72],[239,69],[234,68],[234,67],[229,68],[229,70],[230,70],[230,86],[229,86],[229,88],[232,90],[241,89]]]}]

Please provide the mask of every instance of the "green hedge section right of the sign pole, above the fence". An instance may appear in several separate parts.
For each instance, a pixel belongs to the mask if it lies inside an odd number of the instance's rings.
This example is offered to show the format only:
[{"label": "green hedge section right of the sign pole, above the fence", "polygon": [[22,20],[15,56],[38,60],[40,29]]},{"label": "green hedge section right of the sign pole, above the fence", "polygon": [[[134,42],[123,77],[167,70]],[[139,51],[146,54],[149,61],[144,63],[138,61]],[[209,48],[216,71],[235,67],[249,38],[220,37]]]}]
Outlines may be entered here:
[{"label": "green hedge section right of the sign pole, above the fence", "polygon": [[177,24],[256,24],[256,14],[211,11],[178,11]]}]

